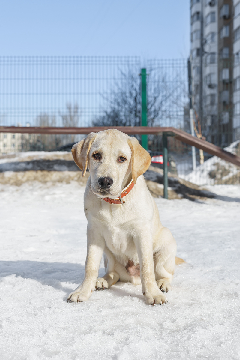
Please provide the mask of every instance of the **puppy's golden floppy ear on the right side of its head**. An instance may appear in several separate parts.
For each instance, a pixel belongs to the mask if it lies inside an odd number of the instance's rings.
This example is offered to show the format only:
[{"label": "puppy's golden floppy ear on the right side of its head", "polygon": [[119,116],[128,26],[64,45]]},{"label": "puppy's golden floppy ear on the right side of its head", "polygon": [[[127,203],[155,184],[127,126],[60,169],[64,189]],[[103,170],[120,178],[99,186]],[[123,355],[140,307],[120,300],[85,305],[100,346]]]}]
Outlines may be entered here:
[{"label": "puppy's golden floppy ear on the right side of its head", "polygon": [[132,150],[132,180],[133,183],[136,184],[137,178],[148,170],[151,164],[151,156],[147,150],[139,144],[136,138],[130,138],[127,142]]}]

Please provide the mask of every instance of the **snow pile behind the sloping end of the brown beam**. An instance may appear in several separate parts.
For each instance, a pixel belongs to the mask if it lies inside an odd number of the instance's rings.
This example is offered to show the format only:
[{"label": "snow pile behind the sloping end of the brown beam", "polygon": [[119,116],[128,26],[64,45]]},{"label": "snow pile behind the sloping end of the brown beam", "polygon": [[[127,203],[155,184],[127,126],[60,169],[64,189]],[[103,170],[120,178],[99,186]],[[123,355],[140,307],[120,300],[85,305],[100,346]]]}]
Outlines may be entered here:
[{"label": "snow pile behind the sloping end of the brown beam", "polygon": [[[236,153],[239,149],[240,140],[235,141],[226,151]],[[213,156],[202,165],[196,167],[196,170],[189,174],[181,174],[181,177],[197,185],[214,184],[240,184],[240,168],[217,156]]]}]

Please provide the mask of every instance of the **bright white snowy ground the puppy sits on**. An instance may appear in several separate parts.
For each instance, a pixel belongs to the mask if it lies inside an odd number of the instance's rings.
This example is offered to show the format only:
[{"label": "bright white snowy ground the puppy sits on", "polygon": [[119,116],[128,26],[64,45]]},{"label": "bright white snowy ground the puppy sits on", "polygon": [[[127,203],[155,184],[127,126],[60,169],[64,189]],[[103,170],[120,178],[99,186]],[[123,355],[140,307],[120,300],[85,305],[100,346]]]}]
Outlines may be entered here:
[{"label": "bright white snowy ground the puppy sits on", "polygon": [[240,359],[240,186],[209,190],[219,199],[156,199],[187,264],[152,307],[120,282],[68,304],[84,274],[84,188],[1,185],[0,359]]}]

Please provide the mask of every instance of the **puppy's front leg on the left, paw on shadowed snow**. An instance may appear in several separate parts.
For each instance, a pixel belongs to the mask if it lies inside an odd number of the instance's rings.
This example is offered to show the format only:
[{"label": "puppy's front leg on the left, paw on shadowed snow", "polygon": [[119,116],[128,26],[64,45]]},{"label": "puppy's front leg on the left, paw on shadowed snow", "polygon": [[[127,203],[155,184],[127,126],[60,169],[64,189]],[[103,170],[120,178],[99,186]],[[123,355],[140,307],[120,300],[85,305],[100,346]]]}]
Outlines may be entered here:
[{"label": "puppy's front leg on the left, paw on shadowed snow", "polygon": [[87,301],[95,290],[98,271],[105,247],[105,240],[99,236],[99,231],[87,225],[87,258],[85,275],[81,285],[68,296],[68,302]]}]

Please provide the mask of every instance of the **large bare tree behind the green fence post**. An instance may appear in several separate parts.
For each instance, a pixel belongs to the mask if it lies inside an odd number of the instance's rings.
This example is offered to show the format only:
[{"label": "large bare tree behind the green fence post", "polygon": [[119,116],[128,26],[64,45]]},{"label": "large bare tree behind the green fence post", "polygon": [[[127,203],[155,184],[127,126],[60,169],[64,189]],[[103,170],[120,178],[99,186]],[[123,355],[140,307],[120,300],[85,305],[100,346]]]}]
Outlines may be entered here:
[{"label": "large bare tree behind the green fence post", "polygon": [[[182,101],[186,89],[179,86],[181,74],[176,74],[176,81],[167,81],[167,73],[150,71],[148,87],[148,125],[165,125],[168,121],[178,120],[174,109],[183,112],[185,103]],[[123,80],[115,85],[109,109],[93,120],[94,126],[140,126],[141,125],[141,82],[138,74],[129,70],[122,73]],[[187,96],[187,95],[186,95]],[[180,99],[181,98],[181,99]],[[108,99],[106,99],[108,100]]]}]

